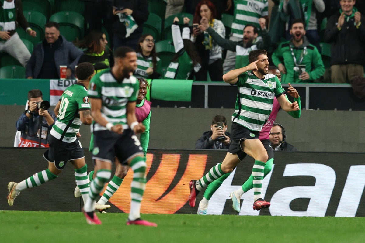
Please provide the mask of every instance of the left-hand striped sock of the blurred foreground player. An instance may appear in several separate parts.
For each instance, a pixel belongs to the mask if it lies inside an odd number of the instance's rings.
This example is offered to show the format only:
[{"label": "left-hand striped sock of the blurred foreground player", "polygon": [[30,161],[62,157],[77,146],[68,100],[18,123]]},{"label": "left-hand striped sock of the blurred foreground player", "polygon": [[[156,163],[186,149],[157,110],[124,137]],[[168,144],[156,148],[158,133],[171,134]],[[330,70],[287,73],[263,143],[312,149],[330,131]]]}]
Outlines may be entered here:
[{"label": "left-hand striped sock of the blurred foreground player", "polygon": [[103,190],[105,183],[110,180],[112,172],[107,169],[101,169],[96,172],[95,179],[90,183],[89,197],[84,205],[85,212],[92,212],[95,210],[94,202],[99,193]]}]

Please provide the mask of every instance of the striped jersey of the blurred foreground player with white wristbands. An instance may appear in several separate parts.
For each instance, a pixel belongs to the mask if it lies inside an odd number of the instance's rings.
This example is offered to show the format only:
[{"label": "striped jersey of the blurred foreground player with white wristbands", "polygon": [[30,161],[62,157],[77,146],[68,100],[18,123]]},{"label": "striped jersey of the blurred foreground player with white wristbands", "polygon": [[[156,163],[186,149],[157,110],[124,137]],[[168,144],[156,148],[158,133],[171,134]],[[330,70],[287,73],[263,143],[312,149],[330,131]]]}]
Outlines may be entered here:
[{"label": "striped jersey of the blurred foreground player with white wristbands", "polygon": [[[137,101],[139,82],[134,76],[124,78],[118,83],[108,68],[97,73],[90,81],[88,95],[90,98],[101,99],[101,115],[112,124],[122,124],[123,129],[127,125],[127,103]],[[93,126],[94,131],[107,130],[97,123]]]}]

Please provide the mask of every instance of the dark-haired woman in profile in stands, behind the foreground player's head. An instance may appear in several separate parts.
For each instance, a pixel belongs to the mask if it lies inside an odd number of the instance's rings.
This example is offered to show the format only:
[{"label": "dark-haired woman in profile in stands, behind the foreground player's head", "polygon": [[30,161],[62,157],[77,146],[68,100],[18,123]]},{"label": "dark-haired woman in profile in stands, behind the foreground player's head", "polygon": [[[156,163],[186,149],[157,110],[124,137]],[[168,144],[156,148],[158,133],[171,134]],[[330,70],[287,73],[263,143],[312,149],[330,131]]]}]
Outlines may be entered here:
[{"label": "dark-haired woman in profile in stands, behind the foreground player's head", "polygon": [[95,72],[100,72],[110,67],[110,52],[107,47],[106,35],[100,31],[91,31],[84,40],[77,44],[86,51],[78,63],[89,62],[94,65]]}]

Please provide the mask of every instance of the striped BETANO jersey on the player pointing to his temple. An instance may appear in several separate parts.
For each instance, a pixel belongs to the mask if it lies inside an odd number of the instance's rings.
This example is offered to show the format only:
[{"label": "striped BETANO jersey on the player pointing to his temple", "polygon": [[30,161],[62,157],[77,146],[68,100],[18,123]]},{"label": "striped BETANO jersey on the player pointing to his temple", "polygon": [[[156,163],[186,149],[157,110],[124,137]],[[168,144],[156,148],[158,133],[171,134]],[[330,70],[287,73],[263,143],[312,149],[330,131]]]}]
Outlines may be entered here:
[{"label": "striped BETANO jersey on the player pointing to his temple", "polygon": [[261,80],[251,72],[244,72],[235,85],[239,92],[232,122],[251,131],[261,131],[271,113],[274,97],[285,93],[279,79],[273,74],[266,74]]}]

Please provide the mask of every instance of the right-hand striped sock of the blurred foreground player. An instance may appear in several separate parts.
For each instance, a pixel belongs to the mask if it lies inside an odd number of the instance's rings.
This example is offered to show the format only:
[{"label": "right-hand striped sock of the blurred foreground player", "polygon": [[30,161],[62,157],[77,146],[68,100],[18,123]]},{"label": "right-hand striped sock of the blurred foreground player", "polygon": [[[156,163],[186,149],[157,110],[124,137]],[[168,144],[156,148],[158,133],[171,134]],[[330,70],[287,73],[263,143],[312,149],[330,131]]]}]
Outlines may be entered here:
[{"label": "right-hand striped sock of the blurred foreground player", "polygon": [[133,170],[131,184],[131,210],[128,219],[135,220],[141,217],[141,201],[146,188],[146,158],[135,157],[130,164]]}]

